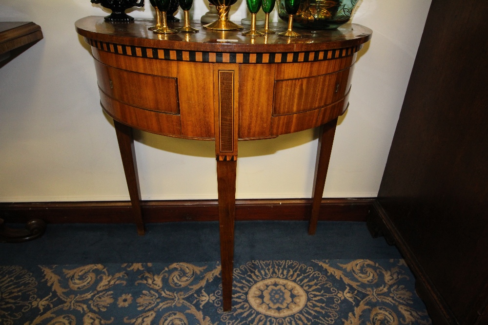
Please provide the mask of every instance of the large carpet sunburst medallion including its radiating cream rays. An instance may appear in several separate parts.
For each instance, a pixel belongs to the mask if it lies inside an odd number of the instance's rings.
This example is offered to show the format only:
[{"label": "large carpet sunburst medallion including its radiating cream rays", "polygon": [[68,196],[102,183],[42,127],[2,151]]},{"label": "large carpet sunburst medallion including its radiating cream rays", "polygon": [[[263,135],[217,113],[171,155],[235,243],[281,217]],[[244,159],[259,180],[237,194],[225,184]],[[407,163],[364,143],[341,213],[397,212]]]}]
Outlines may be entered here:
[{"label": "large carpet sunburst medallion including its radiating cream rays", "polygon": [[234,270],[227,325],[334,324],[344,299],[321,272],[297,261],[252,261]]}]

